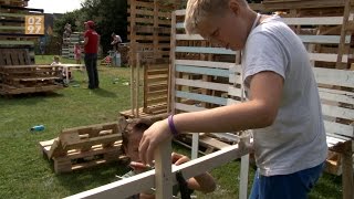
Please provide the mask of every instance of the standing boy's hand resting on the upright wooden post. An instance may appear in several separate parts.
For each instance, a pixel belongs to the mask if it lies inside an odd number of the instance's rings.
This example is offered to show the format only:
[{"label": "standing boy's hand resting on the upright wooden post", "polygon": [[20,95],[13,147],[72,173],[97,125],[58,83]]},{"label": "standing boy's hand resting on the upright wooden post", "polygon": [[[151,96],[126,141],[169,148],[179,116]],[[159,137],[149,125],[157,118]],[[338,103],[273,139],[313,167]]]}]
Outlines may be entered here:
[{"label": "standing boy's hand resting on the upright wooden post", "polygon": [[143,164],[152,165],[156,147],[171,138],[173,134],[169,130],[167,119],[156,122],[145,130],[139,144],[139,157]]}]

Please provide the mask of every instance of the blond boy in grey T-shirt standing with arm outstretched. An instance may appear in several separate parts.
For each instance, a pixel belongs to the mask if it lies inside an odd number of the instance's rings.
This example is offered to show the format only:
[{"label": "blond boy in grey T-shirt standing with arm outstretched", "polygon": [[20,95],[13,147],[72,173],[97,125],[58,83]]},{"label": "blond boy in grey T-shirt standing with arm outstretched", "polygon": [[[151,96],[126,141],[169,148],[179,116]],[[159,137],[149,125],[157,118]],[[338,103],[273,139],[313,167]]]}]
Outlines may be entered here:
[{"label": "blond boy in grey T-shirt standing with arm outstretched", "polygon": [[248,101],[155,123],[142,138],[142,161],[150,164],[157,145],[181,132],[253,129],[258,170],[250,198],[306,198],[322,172],[327,146],[302,41],[280,17],[256,13],[246,0],[189,0],[185,25],[189,34],[242,51]]}]

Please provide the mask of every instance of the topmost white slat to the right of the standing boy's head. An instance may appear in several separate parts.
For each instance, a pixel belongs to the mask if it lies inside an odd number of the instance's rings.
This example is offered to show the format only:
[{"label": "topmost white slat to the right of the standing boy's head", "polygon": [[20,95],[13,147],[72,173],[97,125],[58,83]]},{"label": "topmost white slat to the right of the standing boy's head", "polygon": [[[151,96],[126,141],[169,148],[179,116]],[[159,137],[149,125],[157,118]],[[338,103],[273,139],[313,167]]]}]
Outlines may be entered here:
[{"label": "topmost white slat to the right of the standing boy's head", "polygon": [[288,25],[341,25],[343,17],[282,18]]}]

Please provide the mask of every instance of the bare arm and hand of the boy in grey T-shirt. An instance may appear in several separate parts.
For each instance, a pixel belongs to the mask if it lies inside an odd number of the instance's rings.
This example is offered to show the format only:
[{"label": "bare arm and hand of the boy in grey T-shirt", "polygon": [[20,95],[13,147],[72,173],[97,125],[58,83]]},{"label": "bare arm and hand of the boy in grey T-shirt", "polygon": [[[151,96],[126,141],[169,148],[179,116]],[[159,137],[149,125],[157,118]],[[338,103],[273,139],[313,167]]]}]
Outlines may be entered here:
[{"label": "bare arm and hand of the boy in grey T-shirt", "polygon": [[[277,117],[281,103],[283,77],[274,72],[260,72],[250,82],[250,101],[202,112],[184,113],[174,116],[178,132],[223,133],[270,126]],[[155,123],[147,130],[139,145],[143,163],[150,164],[156,147],[171,139],[168,121]]]}]

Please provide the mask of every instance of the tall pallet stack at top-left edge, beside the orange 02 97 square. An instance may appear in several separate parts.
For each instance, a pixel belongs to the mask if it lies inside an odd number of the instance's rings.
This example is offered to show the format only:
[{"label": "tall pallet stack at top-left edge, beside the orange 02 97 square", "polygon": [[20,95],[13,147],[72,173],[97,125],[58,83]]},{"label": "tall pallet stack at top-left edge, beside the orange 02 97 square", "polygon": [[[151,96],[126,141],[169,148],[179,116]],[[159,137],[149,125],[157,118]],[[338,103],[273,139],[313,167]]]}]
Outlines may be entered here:
[{"label": "tall pallet stack at top-left edge, beside the orange 02 97 square", "polygon": [[42,17],[44,11],[24,8],[27,2],[25,0],[0,0],[0,49],[27,49],[31,63],[34,63],[34,43],[42,34],[25,34],[25,15]]}]

